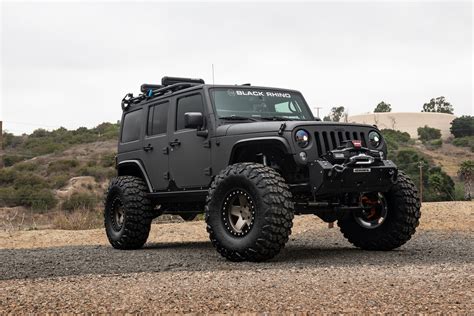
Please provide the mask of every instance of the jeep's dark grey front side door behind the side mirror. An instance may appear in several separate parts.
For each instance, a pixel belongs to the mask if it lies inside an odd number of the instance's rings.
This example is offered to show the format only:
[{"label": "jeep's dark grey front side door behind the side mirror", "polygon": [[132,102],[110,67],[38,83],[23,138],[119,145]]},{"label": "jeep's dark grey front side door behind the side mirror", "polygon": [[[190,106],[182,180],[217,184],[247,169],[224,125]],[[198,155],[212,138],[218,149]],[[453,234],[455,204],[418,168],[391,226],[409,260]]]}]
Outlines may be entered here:
[{"label": "jeep's dark grey front side door behind the side mirror", "polygon": [[200,112],[205,116],[203,96],[192,93],[176,99],[175,128],[169,135],[169,171],[178,188],[206,187],[211,181],[211,150],[207,138],[196,129],[185,128],[184,114]]}]

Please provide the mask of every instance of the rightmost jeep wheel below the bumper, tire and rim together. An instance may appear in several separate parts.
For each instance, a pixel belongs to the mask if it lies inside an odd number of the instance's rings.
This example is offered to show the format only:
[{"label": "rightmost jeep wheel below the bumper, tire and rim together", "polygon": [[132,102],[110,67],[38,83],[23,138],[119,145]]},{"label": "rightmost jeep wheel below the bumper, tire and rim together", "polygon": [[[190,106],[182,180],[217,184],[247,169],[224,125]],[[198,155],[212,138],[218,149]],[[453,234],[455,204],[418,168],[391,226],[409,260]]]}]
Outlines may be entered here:
[{"label": "rightmost jeep wheel below the bumper, tire and rim together", "polygon": [[410,240],[421,216],[418,190],[403,172],[386,193],[361,196],[367,210],[338,221],[344,237],[366,250],[392,250]]}]

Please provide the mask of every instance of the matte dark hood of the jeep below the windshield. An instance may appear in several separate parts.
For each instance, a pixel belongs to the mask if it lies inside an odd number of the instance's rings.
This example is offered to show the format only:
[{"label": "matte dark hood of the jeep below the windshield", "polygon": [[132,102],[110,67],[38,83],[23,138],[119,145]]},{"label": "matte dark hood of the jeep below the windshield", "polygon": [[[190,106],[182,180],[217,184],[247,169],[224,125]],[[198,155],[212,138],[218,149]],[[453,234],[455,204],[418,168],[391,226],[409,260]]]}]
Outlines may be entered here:
[{"label": "matte dark hood of the jeep below the windshield", "polygon": [[337,123],[337,122],[321,122],[321,121],[270,121],[270,122],[248,122],[248,123],[231,123],[220,125],[216,130],[216,136],[231,136],[231,135],[244,135],[244,134],[255,134],[255,133],[270,133],[278,132],[282,124],[286,124],[285,132],[291,131],[296,127],[304,126],[365,126],[371,127],[366,124],[350,124],[350,123]]}]

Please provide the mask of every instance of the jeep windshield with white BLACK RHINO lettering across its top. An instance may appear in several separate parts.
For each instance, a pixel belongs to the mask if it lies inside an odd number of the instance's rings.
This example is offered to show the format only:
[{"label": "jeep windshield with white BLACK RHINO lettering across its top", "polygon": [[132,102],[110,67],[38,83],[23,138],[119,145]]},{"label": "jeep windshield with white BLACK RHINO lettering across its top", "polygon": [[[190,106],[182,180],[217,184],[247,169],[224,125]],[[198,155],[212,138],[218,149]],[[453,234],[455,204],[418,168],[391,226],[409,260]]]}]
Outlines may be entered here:
[{"label": "jeep windshield with white BLACK RHINO lettering across its top", "polygon": [[293,91],[213,88],[211,98],[221,119],[312,120],[303,97]]}]

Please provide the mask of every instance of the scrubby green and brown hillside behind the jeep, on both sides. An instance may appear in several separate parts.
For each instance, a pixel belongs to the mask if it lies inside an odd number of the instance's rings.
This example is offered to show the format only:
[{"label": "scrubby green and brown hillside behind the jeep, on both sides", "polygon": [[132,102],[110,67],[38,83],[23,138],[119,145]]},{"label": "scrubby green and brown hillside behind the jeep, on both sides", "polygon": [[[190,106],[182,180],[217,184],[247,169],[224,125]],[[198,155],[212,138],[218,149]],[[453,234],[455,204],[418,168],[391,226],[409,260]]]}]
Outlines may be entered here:
[{"label": "scrubby green and brown hillside behind the jeep, on both sides", "polygon": [[[434,148],[406,133],[383,132],[389,158],[418,186],[418,166],[423,162],[424,201],[463,198],[458,169],[462,161],[474,160],[469,148],[446,142]],[[102,197],[108,180],[115,175],[117,135],[118,125],[110,123],[75,131],[4,134],[0,225],[65,229],[101,225]],[[438,181],[438,187],[432,185],[432,179]]]}]

